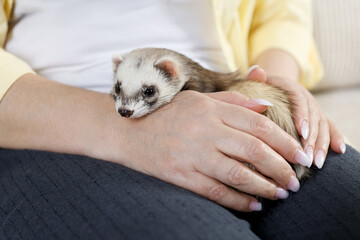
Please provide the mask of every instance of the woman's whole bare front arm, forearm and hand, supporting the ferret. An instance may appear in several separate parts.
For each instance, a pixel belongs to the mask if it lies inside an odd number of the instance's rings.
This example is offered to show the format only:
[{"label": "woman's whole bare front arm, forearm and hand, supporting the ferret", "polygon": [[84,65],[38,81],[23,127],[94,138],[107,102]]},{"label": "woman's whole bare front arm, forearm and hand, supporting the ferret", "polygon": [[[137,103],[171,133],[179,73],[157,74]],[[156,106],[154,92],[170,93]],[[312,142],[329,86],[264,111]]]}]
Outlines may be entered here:
[{"label": "woman's whole bare front arm, forearm and hand, supporting the ferret", "polygon": [[253,195],[278,199],[287,197],[285,189],[297,191],[287,161],[307,158],[299,143],[258,114],[265,109],[238,93],[185,91],[129,120],[109,94],[26,74],[0,103],[0,147],[112,161],[236,210],[260,210]]}]

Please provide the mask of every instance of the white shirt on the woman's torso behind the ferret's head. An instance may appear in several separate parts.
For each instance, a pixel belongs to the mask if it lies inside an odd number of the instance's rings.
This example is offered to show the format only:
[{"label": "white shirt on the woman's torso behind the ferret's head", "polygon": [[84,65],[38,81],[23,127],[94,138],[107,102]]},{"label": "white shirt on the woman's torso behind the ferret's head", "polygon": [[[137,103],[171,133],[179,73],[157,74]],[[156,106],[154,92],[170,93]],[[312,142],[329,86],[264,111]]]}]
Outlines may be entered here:
[{"label": "white shirt on the woman's torso behind the ferret's head", "polygon": [[6,50],[49,79],[110,92],[111,57],[139,47],[228,71],[210,0],[17,0]]}]

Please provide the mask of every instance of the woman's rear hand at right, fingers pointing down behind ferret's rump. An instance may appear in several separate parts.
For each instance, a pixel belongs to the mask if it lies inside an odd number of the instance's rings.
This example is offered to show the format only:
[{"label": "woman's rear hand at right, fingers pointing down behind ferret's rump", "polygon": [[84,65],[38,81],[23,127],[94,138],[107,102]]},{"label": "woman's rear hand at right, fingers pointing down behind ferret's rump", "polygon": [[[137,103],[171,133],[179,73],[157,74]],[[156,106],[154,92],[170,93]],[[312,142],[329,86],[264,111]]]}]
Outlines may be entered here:
[{"label": "woman's rear hand at right, fingers pointing down behind ferret's rump", "polygon": [[342,134],[325,116],[311,93],[302,85],[280,77],[267,77],[265,71],[257,67],[249,71],[248,78],[265,81],[290,93],[292,102],[296,106],[294,108],[296,129],[302,136],[305,152],[319,169],[324,165],[329,145],[335,152],[345,152]]}]

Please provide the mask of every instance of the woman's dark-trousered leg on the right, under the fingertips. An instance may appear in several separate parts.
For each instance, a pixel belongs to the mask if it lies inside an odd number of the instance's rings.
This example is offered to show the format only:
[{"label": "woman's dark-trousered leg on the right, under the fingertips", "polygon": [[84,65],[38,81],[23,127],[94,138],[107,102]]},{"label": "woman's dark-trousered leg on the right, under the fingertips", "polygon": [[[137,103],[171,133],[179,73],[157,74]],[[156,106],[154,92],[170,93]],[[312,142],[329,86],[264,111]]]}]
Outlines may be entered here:
[{"label": "woman's dark-trousered leg on the right, under the fingertips", "polygon": [[262,239],[360,239],[359,200],[360,154],[348,146],[344,155],[329,152],[297,193],[242,217]]}]

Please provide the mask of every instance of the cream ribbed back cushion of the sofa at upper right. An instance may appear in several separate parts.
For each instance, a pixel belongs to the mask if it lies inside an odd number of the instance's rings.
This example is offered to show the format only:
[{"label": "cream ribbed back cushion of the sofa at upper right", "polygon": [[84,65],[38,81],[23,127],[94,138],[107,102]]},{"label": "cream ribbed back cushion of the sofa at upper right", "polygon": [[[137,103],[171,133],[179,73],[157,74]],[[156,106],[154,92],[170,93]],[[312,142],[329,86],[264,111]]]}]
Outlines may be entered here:
[{"label": "cream ribbed back cushion of the sofa at upper right", "polygon": [[324,66],[315,90],[360,86],[360,1],[312,1],[314,34]]}]

